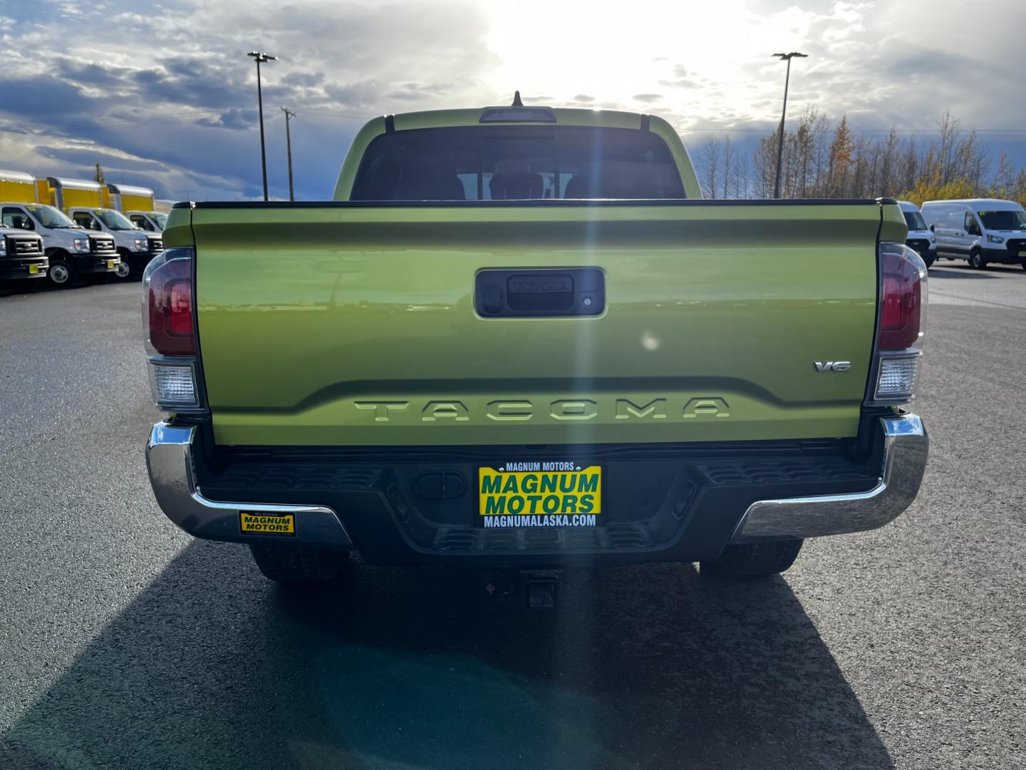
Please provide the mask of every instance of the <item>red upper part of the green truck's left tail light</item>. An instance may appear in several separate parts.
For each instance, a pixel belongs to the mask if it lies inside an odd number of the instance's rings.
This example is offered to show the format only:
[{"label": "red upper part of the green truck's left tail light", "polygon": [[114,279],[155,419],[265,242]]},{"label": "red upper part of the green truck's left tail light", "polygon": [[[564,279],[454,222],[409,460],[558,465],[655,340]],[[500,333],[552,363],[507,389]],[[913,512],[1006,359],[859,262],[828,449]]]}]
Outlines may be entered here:
[{"label": "red upper part of the green truck's left tail light", "polygon": [[[162,355],[195,355],[193,328],[192,259],[186,249],[168,249],[154,260],[146,273],[150,346]],[[168,259],[161,259],[163,257]]]}]

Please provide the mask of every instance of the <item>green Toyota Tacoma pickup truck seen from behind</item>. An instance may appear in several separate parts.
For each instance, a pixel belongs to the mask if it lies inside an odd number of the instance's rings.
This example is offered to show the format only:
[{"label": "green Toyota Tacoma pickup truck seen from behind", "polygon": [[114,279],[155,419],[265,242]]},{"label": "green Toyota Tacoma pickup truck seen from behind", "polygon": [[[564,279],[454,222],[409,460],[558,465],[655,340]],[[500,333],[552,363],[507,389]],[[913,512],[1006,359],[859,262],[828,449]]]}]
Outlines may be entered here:
[{"label": "green Toyota Tacoma pickup truck seen from behind", "polygon": [[[324,202],[179,203],[144,277],[171,521],[370,564],[787,569],[926,462],[893,200],[702,200],[648,115],[376,118]],[[506,574],[506,573],[504,573]]]}]

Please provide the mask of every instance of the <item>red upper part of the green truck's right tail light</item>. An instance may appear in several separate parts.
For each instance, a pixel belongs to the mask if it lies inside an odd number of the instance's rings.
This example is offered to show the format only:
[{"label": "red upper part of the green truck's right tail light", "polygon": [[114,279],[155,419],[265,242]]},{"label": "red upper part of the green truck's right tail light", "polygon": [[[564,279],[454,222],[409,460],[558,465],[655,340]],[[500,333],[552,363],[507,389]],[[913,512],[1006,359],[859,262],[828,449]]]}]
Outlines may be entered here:
[{"label": "red upper part of the green truck's right tail light", "polygon": [[[880,293],[879,350],[919,347],[925,321],[925,266],[909,258],[914,254],[900,244],[887,243],[880,255],[883,281]],[[900,246],[895,248],[894,246]]]}]

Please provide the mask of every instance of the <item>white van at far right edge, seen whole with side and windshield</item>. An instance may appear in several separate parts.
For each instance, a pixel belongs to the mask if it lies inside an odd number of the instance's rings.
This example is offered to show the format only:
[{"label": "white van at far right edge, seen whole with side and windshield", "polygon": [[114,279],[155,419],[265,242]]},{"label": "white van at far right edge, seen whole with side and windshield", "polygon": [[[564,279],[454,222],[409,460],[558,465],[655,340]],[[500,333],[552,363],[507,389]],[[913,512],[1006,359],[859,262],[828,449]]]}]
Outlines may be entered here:
[{"label": "white van at far right edge, seen whole with side and windshield", "polygon": [[928,200],[922,218],[937,236],[938,257],[978,270],[989,262],[1026,268],[1026,211],[1014,200]]}]

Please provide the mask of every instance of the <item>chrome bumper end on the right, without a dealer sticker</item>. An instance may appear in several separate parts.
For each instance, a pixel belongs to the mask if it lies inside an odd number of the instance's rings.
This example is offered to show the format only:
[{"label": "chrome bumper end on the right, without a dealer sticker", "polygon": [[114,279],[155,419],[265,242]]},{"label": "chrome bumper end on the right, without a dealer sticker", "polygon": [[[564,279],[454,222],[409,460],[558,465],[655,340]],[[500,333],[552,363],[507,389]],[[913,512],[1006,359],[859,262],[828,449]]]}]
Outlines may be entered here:
[{"label": "chrome bumper end on the right, without a dealer sticker", "polygon": [[759,500],[748,506],[731,542],[842,535],[874,530],[897,518],[919,491],[930,439],[917,415],[882,418],[880,428],[883,462],[873,489],[847,495]]}]

